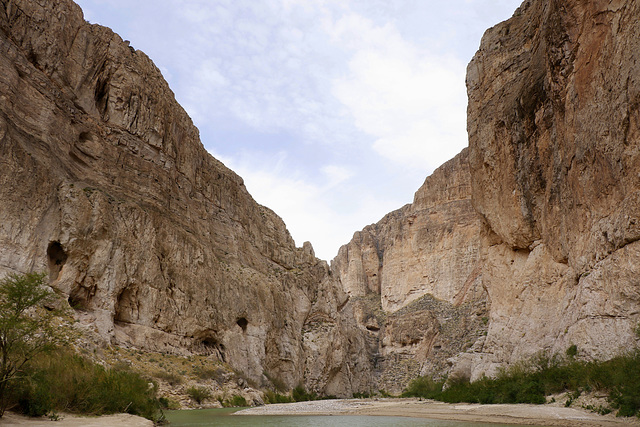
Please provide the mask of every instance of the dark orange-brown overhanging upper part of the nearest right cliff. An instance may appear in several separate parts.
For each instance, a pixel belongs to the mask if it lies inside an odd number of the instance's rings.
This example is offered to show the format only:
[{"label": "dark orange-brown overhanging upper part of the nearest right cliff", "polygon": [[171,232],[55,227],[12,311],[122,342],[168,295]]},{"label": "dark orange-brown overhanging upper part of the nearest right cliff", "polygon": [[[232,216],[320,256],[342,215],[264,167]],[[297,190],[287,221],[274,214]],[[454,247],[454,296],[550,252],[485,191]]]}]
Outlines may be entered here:
[{"label": "dark orange-brown overhanging upper part of the nearest right cliff", "polygon": [[473,203],[582,273],[640,238],[638,6],[525,1],[469,64]]}]

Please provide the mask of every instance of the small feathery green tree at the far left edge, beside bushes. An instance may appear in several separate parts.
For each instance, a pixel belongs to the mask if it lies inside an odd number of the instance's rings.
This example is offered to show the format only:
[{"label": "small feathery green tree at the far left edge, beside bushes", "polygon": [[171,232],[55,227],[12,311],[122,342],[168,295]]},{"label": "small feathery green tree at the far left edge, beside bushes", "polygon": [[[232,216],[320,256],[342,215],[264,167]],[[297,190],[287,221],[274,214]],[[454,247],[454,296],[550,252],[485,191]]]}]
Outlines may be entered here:
[{"label": "small feathery green tree at the far left edge, beside bushes", "polygon": [[63,339],[56,310],[45,309],[53,293],[43,286],[45,274],[9,274],[0,280],[0,417],[8,405],[11,382],[27,363]]}]

